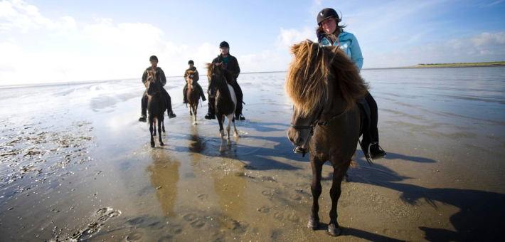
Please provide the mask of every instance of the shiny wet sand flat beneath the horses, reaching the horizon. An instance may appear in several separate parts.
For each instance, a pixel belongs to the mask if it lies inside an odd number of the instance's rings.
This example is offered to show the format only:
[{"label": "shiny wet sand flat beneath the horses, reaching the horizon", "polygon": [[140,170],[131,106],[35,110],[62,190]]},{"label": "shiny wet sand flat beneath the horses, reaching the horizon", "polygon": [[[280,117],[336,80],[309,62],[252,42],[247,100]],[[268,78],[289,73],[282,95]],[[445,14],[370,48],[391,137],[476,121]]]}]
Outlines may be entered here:
[{"label": "shiny wet sand flat beneath the horses, reaching the horizon", "polygon": [[1,88],[0,241],[491,240],[505,225],[505,68],[454,69],[363,70],[388,157],[369,167],[357,150],[337,238],[329,163],[324,224],[306,226],[312,172],[286,137],[285,73],[240,75],[248,120],[225,152],[206,102],[191,125],[182,78],[154,149],[139,80]]}]

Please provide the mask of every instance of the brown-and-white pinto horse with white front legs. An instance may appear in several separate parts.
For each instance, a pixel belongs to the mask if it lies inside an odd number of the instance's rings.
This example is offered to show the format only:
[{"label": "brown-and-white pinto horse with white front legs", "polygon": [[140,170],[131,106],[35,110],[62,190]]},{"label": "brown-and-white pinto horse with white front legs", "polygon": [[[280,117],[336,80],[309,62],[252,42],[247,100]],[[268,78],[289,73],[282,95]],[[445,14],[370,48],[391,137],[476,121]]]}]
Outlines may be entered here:
[{"label": "brown-and-white pinto horse with white front legs", "polygon": [[219,151],[225,151],[224,143],[224,129],[223,122],[225,117],[228,118],[228,126],[226,132],[228,135],[226,139],[227,144],[231,145],[230,141],[230,122],[233,122],[235,129],[234,137],[238,137],[237,127],[235,127],[235,108],[237,107],[237,97],[235,91],[230,84],[235,82],[232,73],[223,68],[221,63],[207,63],[207,77],[208,77],[208,97],[216,98],[214,103],[214,110],[216,110],[216,118],[219,122],[219,132],[221,134],[221,145]]}]

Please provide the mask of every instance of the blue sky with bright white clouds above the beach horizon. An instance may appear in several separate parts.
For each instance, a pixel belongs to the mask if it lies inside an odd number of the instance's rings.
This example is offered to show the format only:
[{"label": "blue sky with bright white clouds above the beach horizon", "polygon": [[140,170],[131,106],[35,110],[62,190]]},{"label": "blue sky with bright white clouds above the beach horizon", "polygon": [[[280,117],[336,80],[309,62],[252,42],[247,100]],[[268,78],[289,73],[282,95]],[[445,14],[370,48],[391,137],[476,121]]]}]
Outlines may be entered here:
[{"label": "blue sky with bright white clouds above the beach horizon", "polygon": [[200,72],[230,43],[243,73],[287,70],[289,46],[316,40],[317,13],[341,13],[363,68],[505,61],[505,0],[0,1],[0,85]]}]

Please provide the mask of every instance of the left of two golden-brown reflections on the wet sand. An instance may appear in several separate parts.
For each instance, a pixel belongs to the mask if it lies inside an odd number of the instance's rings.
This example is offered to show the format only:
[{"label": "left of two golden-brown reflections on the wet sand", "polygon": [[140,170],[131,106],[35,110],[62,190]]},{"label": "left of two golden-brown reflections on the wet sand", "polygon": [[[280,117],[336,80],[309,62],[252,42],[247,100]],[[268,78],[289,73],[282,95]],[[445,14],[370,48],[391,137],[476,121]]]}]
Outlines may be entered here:
[{"label": "left of two golden-brown reflections on the wet sand", "polygon": [[164,215],[175,216],[174,206],[181,162],[171,160],[164,149],[152,150],[151,154],[153,164],[147,167],[146,172],[151,173],[151,184],[156,188],[156,197]]}]

